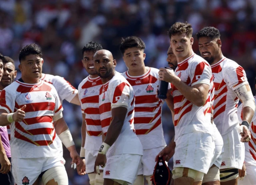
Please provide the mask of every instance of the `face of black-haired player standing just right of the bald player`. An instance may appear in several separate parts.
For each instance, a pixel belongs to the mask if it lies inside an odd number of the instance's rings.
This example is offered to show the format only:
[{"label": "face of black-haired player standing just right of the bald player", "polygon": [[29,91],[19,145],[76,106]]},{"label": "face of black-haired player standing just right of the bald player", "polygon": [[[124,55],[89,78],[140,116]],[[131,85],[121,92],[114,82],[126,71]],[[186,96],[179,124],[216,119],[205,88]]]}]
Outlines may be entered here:
[{"label": "face of black-haired player standing just right of the bald player", "polygon": [[126,67],[131,71],[141,70],[144,65],[144,59],[146,54],[143,50],[138,49],[138,47],[131,47],[124,51],[124,63]]}]

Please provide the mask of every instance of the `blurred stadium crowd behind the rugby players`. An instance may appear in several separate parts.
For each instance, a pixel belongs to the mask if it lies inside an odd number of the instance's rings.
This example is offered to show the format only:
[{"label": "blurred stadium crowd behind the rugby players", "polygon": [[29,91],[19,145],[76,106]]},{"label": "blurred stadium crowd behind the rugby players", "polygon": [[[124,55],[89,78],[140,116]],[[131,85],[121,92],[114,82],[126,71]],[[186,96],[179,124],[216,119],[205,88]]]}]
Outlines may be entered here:
[{"label": "blurred stadium crowd behind the rugby players", "polygon": [[[88,74],[82,66],[83,45],[97,41],[117,59],[116,71],[127,70],[119,51],[121,37],[136,35],[146,44],[145,63],[167,66],[167,31],[174,22],[189,22],[195,37],[204,26],[220,30],[222,53],[244,67],[254,91],[256,75],[255,0],[0,0],[0,53],[16,62],[18,53],[30,43],[42,48],[43,72],[60,75],[74,87]],[[18,70],[17,79],[20,77]],[[79,106],[63,102],[64,118],[80,151],[82,117]],[[166,143],[174,136],[170,111],[162,113]],[[89,185],[88,177],[70,168],[65,152],[70,185]],[[172,168],[172,161],[169,162]]]}]

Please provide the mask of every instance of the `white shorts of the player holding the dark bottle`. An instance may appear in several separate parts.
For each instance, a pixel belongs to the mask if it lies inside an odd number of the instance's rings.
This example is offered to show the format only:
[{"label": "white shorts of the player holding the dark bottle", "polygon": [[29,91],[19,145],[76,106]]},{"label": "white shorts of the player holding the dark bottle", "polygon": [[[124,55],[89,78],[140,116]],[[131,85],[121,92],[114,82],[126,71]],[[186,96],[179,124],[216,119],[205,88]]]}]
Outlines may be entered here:
[{"label": "white shorts of the player holding the dark bottle", "polygon": [[173,167],[188,167],[206,174],[213,159],[214,148],[211,134],[200,131],[183,134],[176,140]]}]

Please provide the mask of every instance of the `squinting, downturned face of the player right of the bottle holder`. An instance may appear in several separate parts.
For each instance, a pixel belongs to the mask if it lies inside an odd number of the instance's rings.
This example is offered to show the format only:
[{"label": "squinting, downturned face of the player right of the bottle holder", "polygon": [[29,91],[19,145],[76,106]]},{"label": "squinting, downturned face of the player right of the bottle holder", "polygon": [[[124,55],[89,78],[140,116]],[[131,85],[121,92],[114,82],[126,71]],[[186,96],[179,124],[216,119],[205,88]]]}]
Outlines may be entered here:
[{"label": "squinting, downturned face of the player right of the bottle holder", "polygon": [[220,43],[220,39],[218,38],[200,37],[198,39],[199,51],[209,64],[213,63],[215,57],[218,55],[220,49],[218,42]]}]

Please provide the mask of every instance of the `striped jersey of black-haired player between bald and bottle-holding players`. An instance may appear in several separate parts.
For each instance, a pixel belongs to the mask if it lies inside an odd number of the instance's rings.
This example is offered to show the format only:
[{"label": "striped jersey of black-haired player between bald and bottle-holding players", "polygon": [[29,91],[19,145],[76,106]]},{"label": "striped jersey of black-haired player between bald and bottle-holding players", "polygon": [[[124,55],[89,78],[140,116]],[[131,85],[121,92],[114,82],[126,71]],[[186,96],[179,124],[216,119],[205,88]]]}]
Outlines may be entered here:
[{"label": "striped jersey of black-haired player between bald and bottle-holding players", "polygon": [[128,71],[122,73],[134,89],[134,128],[144,150],[166,146],[161,120],[164,100],[156,98],[158,71],[148,67],[144,75],[137,77],[130,76]]}]

